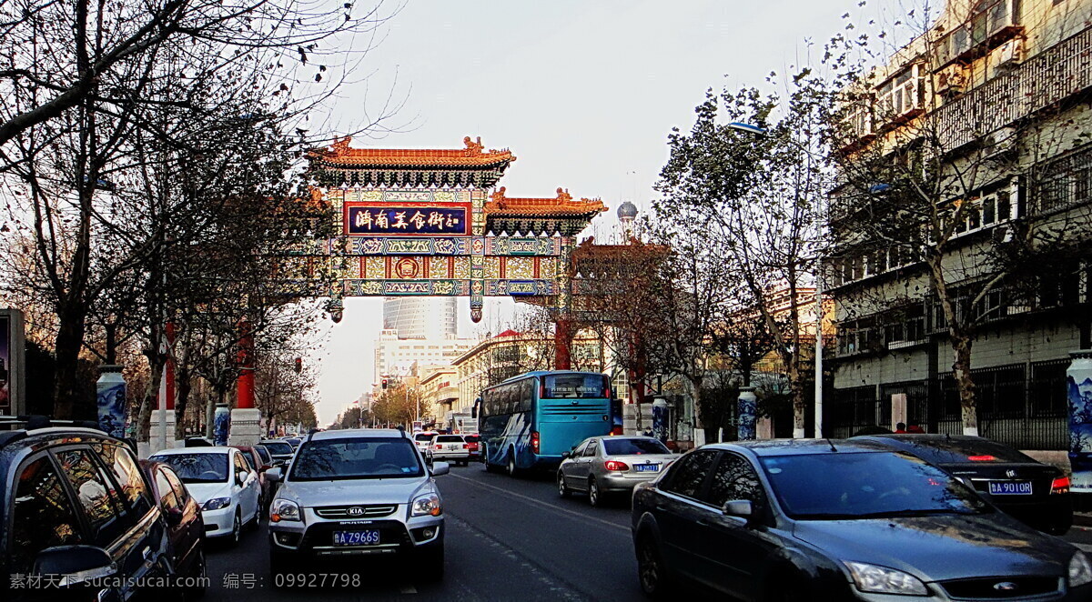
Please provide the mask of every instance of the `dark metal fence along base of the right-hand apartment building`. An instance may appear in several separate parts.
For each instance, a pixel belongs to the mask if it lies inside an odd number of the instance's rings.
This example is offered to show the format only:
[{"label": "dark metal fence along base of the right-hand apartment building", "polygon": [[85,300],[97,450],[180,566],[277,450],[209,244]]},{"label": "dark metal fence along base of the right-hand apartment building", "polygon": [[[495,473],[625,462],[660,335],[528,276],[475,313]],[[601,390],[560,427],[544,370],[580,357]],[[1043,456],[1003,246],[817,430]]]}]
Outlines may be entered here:
[{"label": "dark metal fence along base of the right-hand apartment building", "polygon": [[[1066,450],[1069,446],[1068,359],[972,371],[978,434],[1018,449]],[[823,406],[824,432],[850,436],[866,426],[891,426],[891,396],[906,395],[906,423],[929,433],[959,434],[963,418],[951,373],[930,381],[887,383],[832,392]]]}]

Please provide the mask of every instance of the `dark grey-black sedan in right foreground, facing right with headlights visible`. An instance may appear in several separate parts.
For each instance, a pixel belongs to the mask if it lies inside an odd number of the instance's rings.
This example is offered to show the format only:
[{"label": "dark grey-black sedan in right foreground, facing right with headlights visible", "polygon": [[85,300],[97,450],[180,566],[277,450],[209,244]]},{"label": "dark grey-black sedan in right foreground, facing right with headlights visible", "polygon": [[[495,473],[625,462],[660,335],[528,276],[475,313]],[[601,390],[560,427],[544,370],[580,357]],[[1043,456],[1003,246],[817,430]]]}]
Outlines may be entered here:
[{"label": "dark grey-black sedan in right foreground, facing right with headlights visible", "polygon": [[641,588],[748,601],[1089,600],[1092,563],[921,458],[868,442],[704,446],[633,493]]}]

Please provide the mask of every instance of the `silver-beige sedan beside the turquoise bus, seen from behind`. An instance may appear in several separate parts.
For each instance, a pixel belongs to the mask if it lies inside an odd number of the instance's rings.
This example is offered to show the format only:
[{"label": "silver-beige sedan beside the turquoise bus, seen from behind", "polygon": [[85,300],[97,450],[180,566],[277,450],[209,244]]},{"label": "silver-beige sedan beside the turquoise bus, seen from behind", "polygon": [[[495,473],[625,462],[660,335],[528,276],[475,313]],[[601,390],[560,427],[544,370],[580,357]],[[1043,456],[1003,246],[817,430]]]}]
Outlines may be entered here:
[{"label": "silver-beige sedan beside the turquoise bus, seen from behind", "polygon": [[612,435],[586,438],[561,457],[558,494],[583,492],[591,505],[600,506],[612,495],[629,494],[638,483],[655,479],[678,456],[656,438]]}]

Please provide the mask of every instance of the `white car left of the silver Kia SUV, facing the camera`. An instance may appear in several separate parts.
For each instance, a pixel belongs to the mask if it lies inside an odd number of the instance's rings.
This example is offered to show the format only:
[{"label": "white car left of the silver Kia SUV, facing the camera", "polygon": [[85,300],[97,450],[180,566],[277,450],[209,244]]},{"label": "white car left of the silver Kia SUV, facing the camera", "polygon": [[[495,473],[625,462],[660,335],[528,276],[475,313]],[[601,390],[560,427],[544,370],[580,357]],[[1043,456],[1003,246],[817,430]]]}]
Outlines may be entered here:
[{"label": "white car left of the silver Kia SUV, facing the camera", "polygon": [[242,455],[234,447],[182,447],[164,449],[151,458],[169,465],[201,504],[205,535],[228,538],[236,545],[244,526],[257,527],[261,517],[261,483]]}]

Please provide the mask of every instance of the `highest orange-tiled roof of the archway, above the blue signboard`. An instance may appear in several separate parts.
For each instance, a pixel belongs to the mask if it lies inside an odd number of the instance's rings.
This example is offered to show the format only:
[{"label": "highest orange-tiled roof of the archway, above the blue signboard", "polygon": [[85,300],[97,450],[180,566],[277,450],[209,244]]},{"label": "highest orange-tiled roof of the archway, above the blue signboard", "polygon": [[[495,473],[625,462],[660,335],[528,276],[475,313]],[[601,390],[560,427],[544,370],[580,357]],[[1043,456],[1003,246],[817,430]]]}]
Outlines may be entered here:
[{"label": "highest orange-tiled roof of the archway, above the blue signboard", "polygon": [[329,147],[312,148],[307,156],[331,167],[352,169],[491,167],[515,160],[508,148],[486,150],[482,136],[465,136],[464,148],[354,148],[349,146],[352,141],[348,135],[334,137]]}]

